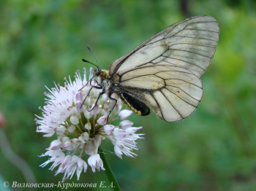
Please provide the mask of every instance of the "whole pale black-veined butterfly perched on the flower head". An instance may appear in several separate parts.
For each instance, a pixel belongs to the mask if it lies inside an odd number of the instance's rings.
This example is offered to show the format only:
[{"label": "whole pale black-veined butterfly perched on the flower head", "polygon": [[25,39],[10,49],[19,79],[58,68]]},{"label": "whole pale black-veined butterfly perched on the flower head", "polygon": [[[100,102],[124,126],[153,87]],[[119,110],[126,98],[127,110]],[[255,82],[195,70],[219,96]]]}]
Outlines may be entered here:
[{"label": "whole pale black-veined butterfly perched on the flower head", "polygon": [[214,17],[181,20],[118,58],[109,71],[97,66],[97,86],[91,88],[102,89],[100,95],[107,93],[113,101],[110,95],[116,93],[137,114],[148,115],[149,106],[162,120],[183,120],[201,101],[200,77],[211,63],[218,40]]}]

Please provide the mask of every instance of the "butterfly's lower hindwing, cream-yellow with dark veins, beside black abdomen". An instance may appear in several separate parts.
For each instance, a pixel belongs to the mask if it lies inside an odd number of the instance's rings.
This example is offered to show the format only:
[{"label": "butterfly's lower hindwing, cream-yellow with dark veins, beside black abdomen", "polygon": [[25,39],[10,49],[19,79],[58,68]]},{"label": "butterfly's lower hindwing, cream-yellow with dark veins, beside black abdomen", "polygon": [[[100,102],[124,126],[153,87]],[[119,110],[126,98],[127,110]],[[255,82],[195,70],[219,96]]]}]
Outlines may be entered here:
[{"label": "butterfly's lower hindwing, cream-yellow with dark veins, beside black abdomen", "polygon": [[140,66],[113,76],[121,91],[148,104],[167,122],[182,120],[197,108],[202,82],[191,71],[177,66]]}]

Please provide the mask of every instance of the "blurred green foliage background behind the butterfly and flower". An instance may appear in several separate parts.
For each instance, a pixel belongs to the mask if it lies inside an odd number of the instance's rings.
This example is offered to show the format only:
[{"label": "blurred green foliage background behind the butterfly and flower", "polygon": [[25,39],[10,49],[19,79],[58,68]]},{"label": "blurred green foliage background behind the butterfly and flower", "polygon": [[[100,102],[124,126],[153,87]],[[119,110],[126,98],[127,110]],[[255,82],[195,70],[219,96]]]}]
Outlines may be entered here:
[{"label": "blurred green foliage background behind the butterfly and flower", "polygon": [[[129,120],[143,126],[138,133],[146,133],[138,141],[139,156],[106,157],[122,190],[256,190],[255,8],[252,0],[0,0],[0,111],[12,149],[37,182],[58,184],[62,175],[53,176],[50,165],[40,168],[48,157],[37,157],[54,139],[35,132],[34,114],[40,116],[38,107],[45,105],[45,85],[64,85],[64,77],[73,77],[77,69],[89,71],[91,65],[81,61],[94,62],[86,45],[108,69],[163,28],[193,15],[211,15],[219,23],[219,44],[203,74],[204,95],[196,112],[175,123],[153,112],[132,114]],[[113,145],[106,142],[105,149],[113,152]],[[1,151],[0,174],[4,181],[26,182]],[[67,180],[72,181],[77,182],[75,176]],[[89,168],[80,176],[80,182],[101,181],[108,183],[104,171]]]}]

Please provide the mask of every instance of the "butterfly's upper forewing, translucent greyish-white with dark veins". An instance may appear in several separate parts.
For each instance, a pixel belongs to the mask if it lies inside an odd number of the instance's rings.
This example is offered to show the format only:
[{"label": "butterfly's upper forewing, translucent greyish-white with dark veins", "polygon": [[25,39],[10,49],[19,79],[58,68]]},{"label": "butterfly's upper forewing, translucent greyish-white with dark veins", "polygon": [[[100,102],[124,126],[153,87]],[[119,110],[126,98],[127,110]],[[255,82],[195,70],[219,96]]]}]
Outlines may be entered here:
[{"label": "butterfly's upper forewing, translucent greyish-white with dark veins", "polygon": [[211,63],[218,40],[219,26],[214,17],[181,20],[111,63],[110,77],[135,67],[167,65],[187,69],[200,78]]}]

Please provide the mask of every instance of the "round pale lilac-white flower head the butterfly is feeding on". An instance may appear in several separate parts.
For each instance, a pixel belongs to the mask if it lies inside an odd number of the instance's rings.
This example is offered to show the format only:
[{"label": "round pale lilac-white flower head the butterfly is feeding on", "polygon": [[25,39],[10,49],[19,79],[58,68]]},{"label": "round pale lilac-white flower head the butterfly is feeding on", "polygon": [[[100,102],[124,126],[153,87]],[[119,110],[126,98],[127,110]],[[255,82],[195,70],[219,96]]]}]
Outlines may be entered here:
[{"label": "round pale lilac-white flower head the butterfly is feeding on", "polygon": [[[90,71],[91,78],[92,69]],[[134,157],[137,155],[132,152],[132,149],[138,150],[135,141],[143,139],[140,136],[144,135],[135,134],[142,127],[133,128],[133,122],[126,120],[132,112],[127,109],[121,110],[123,103],[120,98],[117,98],[117,95],[112,95],[118,100],[116,106],[114,106],[115,102],[110,101],[105,94],[99,98],[95,106],[101,92],[97,88],[93,88],[86,98],[91,88],[91,85],[86,85],[86,82],[85,69],[83,79],[79,72],[76,72],[74,82],[69,77],[69,81],[66,79],[64,87],[56,85],[52,90],[48,89],[50,93],[45,93],[48,97],[45,102],[47,105],[43,106],[42,117],[37,116],[38,119],[36,119],[37,125],[39,125],[37,132],[46,133],[45,137],[53,136],[55,133],[57,135],[57,139],[52,141],[50,147],[47,148],[48,151],[40,156],[49,156],[49,160],[40,166],[45,167],[51,162],[53,164],[50,170],[59,166],[56,174],[64,173],[63,182],[65,179],[71,179],[75,172],[78,179],[82,171],[86,172],[88,165],[82,159],[86,154],[89,155],[88,164],[93,172],[95,172],[95,168],[98,171],[100,168],[105,170],[98,154],[103,139],[107,138],[112,141],[118,157],[121,158],[123,153]],[[94,82],[91,83],[94,85]],[[81,87],[83,90],[80,90]],[[85,98],[86,101],[83,103]],[[118,126],[105,125],[112,108],[113,112],[108,121],[122,120]]]}]

